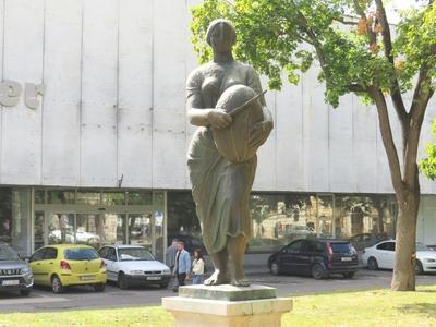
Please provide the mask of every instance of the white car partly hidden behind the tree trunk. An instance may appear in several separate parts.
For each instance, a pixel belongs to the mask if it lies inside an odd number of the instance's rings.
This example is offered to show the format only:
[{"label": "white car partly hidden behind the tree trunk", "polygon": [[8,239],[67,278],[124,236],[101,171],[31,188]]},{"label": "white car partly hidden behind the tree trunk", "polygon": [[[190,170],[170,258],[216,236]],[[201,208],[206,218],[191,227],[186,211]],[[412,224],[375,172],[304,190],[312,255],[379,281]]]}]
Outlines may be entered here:
[{"label": "white car partly hidden behind the tree trunk", "polygon": [[[379,242],[371,247],[365,247],[362,262],[371,270],[393,269],[395,240]],[[416,274],[436,272],[436,252],[422,243],[416,243]]]}]

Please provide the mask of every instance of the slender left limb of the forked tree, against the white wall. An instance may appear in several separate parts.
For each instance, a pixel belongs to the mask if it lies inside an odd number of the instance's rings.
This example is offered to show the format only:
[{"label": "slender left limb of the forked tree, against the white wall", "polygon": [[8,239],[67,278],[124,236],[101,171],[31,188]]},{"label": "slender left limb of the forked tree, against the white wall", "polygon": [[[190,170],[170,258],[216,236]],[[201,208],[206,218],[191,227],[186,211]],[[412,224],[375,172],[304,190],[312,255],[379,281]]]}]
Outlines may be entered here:
[{"label": "slender left limb of the forked tree, against the white wall", "polygon": [[379,88],[371,86],[368,88],[370,95],[373,97],[378,113],[378,123],[380,126],[382,140],[388,156],[388,162],[390,168],[390,175],[392,180],[393,189],[397,194],[401,194],[401,189],[403,186],[401,179],[401,168],[398,158],[397,147],[393,142],[392,130],[389,122],[389,113],[385,96]]}]

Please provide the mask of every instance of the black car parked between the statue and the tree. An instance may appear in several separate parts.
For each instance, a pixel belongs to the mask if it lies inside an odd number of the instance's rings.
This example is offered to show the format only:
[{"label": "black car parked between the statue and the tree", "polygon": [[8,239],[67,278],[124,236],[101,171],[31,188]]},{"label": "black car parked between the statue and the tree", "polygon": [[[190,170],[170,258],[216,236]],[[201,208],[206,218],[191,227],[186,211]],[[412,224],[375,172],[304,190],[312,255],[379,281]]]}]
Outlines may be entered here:
[{"label": "black car parked between the statue and the tree", "polygon": [[349,241],[295,240],[268,258],[271,274],[308,275],[315,279],[341,274],[352,278],[358,270],[358,253]]}]

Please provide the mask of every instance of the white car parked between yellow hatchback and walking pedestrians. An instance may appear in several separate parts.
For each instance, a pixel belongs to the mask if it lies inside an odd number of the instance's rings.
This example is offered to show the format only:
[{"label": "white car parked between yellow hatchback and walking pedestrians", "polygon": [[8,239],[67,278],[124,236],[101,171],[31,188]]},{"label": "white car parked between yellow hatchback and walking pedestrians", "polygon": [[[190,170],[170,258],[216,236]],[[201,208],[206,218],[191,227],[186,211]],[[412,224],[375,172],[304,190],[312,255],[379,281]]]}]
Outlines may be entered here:
[{"label": "white car parked between yellow hatchback and walking pedestrians", "polygon": [[98,253],[105,261],[108,280],[117,282],[120,289],[140,284],[167,288],[171,279],[170,268],[144,246],[105,245]]}]

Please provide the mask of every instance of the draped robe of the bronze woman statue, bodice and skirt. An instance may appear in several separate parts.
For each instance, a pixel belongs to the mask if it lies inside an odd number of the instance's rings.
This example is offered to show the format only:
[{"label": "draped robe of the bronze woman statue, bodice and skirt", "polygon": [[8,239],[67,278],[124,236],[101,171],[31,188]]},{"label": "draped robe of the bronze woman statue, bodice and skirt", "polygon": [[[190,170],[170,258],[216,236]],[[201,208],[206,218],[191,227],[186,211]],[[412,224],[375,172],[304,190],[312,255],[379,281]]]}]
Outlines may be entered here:
[{"label": "draped robe of the bronze woman statue, bodice and skirt", "polygon": [[[215,108],[220,95],[230,86],[243,84],[262,92],[257,73],[250,65],[232,61],[208,63],[194,70],[186,85],[186,100],[193,108]],[[265,105],[264,99],[261,101]],[[203,242],[209,254],[226,247],[227,237],[251,237],[250,192],[257,157],[232,164],[222,157],[209,128],[198,128],[191,141],[187,167],[192,194],[202,225]]]}]

